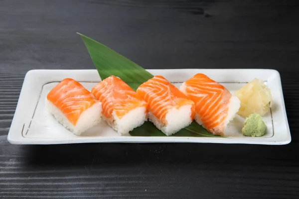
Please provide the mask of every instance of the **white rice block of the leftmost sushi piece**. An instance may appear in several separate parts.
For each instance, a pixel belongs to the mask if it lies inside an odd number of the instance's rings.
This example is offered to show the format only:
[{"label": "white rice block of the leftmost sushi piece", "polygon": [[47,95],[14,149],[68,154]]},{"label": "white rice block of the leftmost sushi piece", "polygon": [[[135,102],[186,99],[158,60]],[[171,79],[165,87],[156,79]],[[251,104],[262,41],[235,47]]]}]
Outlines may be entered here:
[{"label": "white rice block of the leftmost sushi piece", "polygon": [[90,108],[83,111],[74,126],[67,117],[63,114],[59,108],[57,108],[51,101],[46,99],[46,107],[48,111],[54,115],[56,120],[62,124],[65,128],[70,130],[76,135],[81,135],[83,132],[88,130],[89,128],[95,126],[101,121],[102,116],[102,104],[101,102],[97,102],[92,105]]}]

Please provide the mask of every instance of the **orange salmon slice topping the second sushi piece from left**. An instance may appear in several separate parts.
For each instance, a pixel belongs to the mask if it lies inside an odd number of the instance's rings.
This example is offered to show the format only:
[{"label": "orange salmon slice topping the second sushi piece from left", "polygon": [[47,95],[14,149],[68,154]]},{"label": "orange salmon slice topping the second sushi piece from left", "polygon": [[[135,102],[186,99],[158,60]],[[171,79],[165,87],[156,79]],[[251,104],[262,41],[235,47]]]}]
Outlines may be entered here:
[{"label": "orange salmon slice topping the second sushi piece from left", "polygon": [[91,93],[102,102],[102,114],[106,118],[111,118],[113,111],[121,119],[137,107],[145,107],[146,111],[148,109],[148,103],[123,80],[115,76],[110,76],[98,83]]}]

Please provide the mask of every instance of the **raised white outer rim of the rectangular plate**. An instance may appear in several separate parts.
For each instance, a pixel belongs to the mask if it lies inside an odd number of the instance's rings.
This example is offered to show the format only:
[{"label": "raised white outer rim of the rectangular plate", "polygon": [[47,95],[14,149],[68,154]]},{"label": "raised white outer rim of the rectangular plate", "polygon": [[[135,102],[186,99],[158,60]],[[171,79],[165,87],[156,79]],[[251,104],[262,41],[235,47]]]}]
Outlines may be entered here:
[{"label": "raised white outer rim of the rectangular plate", "polygon": [[[173,71],[173,72],[179,72],[179,71],[186,71],[186,70],[193,70],[193,71],[243,71],[243,72],[257,72],[257,71],[269,71],[272,72],[274,75],[276,75],[277,80],[276,82],[279,83],[279,93],[282,95],[281,103],[280,105],[283,107],[282,113],[283,118],[282,120],[285,121],[285,127],[286,132],[284,137],[282,139],[276,140],[276,136],[268,137],[268,138],[254,138],[252,139],[246,139],[246,140],[240,140],[240,139],[234,139],[234,138],[214,138],[214,137],[144,137],[144,136],[130,136],[130,141],[128,141],[128,137],[120,136],[117,137],[117,140],[115,140],[115,137],[106,137],[102,138],[101,141],[97,139],[91,139],[89,137],[80,137],[81,139],[74,139],[74,138],[41,138],[41,140],[38,140],[40,138],[28,138],[23,136],[15,136],[16,133],[19,132],[13,132],[13,127],[16,122],[16,118],[19,117],[20,114],[20,101],[25,96],[25,90],[26,87],[28,87],[30,84],[34,83],[36,81],[37,77],[36,75],[40,73],[48,73],[48,72],[72,72],[72,73],[95,73],[98,76],[98,80],[101,81],[98,72],[96,69],[33,69],[29,70],[25,78],[23,80],[21,92],[18,98],[18,102],[16,105],[15,113],[13,115],[11,125],[7,134],[7,141],[10,144],[75,144],[75,143],[222,143],[222,144],[259,144],[259,145],[286,145],[289,144],[292,141],[292,136],[290,132],[287,112],[286,112],[286,106],[285,106],[285,99],[284,99],[284,93],[282,88],[282,82],[280,73],[275,69],[147,69],[149,72],[157,72],[157,71]],[[58,80],[59,81],[59,80]],[[61,81],[61,80],[60,80]],[[54,82],[54,81],[52,81]],[[49,83],[49,82],[47,82]],[[42,85],[43,86],[43,85]],[[273,125],[274,128],[274,125]],[[146,138],[146,139],[145,139]],[[44,139],[44,140],[42,140]],[[45,140],[49,139],[49,140]],[[56,139],[56,140],[55,140]],[[126,140],[127,139],[127,140]],[[143,141],[143,139],[145,139]],[[257,142],[257,140],[263,139],[262,142]],[[104,140],[104,141],[103,141]],[[221,141],[222,140],[222,141]],[[264,141],[265,140],[265,141]]]}]

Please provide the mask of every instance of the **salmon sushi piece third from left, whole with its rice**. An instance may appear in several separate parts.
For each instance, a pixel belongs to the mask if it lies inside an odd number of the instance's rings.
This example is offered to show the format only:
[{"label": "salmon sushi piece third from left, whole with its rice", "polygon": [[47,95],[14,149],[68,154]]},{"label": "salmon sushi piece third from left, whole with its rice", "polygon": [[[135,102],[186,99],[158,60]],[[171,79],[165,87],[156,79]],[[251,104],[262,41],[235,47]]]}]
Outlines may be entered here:
[{"label": "salmon sushi piece third from left, whole with its rice", "polygon": [[191,124],[194,102],[162,76],[140,85],[137,93],[148,102],[149,121],[165,135],[175,134]]}]

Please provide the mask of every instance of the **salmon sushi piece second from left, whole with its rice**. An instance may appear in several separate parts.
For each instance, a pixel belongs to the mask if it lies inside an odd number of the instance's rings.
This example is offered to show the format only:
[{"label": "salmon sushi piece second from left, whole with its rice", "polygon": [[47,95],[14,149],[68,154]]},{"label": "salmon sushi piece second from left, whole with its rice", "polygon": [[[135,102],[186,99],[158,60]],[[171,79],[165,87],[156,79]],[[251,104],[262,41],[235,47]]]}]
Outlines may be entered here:
[{"label": "salmon sushi piece second from left, whole with its rice", "polygon": [[104,79],[91,93],[102,103],[103,119],[120,135],[148,120],[148,103],[118,77]]}]

